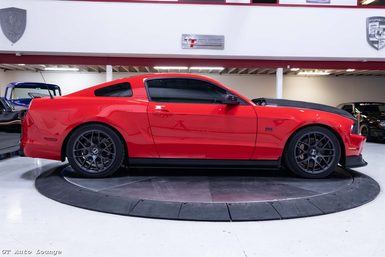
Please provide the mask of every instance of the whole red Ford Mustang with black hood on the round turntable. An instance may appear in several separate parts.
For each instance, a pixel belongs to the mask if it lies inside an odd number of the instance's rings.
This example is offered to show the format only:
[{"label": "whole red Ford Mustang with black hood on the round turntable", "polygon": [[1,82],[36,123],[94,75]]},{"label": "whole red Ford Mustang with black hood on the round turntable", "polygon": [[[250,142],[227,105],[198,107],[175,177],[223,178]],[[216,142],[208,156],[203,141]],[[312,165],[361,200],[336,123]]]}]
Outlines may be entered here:
[{"label": "whole red Ford Mustang with black hood on the round turntable", "polygon": [[356,119],[330,106],[249,100],[192,74],[127,77],[35,98],[21,155],[68,161],[83,176],[130,167],[278,169],[307,178],[365,166]]}]

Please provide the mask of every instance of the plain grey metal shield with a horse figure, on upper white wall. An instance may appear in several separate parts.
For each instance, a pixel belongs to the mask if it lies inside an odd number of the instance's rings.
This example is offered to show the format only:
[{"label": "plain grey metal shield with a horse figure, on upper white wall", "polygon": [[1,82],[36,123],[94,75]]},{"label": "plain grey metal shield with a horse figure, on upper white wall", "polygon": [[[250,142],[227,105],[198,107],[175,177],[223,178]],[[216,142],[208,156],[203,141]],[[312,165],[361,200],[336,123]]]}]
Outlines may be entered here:
[{"label": "plain grey metal shield with a horse figure, on upper white wall", "polygon": [[4,35],[15,43],[25,31],[27,10],[11,7],[0,9],[0,25]]}]

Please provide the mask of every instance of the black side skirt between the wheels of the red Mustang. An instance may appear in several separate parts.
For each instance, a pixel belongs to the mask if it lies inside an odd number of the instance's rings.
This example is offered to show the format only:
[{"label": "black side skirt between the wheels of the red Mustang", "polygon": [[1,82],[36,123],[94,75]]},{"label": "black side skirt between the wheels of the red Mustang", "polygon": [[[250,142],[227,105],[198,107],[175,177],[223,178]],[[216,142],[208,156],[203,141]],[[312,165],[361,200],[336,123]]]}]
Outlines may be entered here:
[{"label": "black side skirt between the wheels of the red Mustang", "polygon": [[129,158],[130,168],[211,168],[278,170],[281,157],[271,160],[208,160],[171,158]]}]

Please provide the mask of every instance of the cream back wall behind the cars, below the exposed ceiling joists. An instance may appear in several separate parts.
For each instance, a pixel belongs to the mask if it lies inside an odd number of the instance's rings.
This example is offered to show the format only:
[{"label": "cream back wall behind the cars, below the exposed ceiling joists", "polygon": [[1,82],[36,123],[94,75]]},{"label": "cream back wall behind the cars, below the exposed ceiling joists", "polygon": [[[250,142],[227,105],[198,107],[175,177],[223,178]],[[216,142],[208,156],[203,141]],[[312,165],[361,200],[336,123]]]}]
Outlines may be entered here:
[{"label": "cream back wall behind the cars, below the exposed ceiling joists", "polygon": [[[135,74],[113,74],[120,79]],[[43,72],[47,83],[57,84],[63,94],[78,91],[104,83],[105,73],[60,73]],[[243,96],[275,97],[276,77],[274,75],[204,75],[234,89]],[[43,82],[38,72],[0,71],[0,94],[4,96],[9,82]],[[316,102],[336,106],[342,102],[377,101],[385,102],[385,77],[335,77],[335,76],[283,76],[283,98],[298,101]]]}]

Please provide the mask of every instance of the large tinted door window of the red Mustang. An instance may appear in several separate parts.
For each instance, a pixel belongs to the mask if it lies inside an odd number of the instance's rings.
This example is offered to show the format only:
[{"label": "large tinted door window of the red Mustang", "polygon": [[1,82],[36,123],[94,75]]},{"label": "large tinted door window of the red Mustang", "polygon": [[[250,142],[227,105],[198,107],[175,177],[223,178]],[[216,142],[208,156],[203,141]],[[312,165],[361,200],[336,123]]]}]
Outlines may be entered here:
[{"label": "large tinted door window of the red Mustang", "polygon": [[197,79],[156,79],[147,81],[151,101],[220,104],[222,95],[230,94],[221,87]]}]

